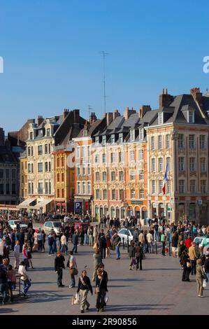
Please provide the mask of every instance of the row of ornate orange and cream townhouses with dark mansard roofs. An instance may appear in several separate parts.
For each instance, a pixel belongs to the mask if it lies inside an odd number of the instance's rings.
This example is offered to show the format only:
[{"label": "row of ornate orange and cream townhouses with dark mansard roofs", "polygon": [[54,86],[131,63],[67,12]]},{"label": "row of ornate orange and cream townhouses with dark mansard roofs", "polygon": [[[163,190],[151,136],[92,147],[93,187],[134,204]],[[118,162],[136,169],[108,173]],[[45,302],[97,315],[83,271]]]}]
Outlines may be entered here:
[{"label": "row of ornate orange and cream townhouses with dark mansard roofs", "polygon": [[66,109],[27,121],[27,138],[10,133],[24,148],[19,209],[208,223],[208,113],[209,94],[192,88],[178,96],[163,90],[154,110],[116,109],[85,120]]}]

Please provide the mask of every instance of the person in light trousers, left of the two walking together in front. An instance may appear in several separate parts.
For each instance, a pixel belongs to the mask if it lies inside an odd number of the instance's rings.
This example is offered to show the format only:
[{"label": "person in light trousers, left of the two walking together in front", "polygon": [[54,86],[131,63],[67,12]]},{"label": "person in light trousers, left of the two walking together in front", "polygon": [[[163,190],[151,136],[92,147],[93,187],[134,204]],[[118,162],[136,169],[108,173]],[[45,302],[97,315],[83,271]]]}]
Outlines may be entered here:
[{"label": "person in light trousers, left of the two walking together in front", "polygon": [[93,295],[91,281],[90,281],[89,277],[87,276],[87,271],[84,269],[84,270],[82,270],[82,274],[79,278],[78,290],[77,290],[77,293],[80,292],[80,297],[81,297],[80,313],[84,313],[85,307],[86,307],[86,310],[88,310],[90,307],[90,304],[87,301],[87,295],[88,295],[89,290],[91,291],[91,293]]}]

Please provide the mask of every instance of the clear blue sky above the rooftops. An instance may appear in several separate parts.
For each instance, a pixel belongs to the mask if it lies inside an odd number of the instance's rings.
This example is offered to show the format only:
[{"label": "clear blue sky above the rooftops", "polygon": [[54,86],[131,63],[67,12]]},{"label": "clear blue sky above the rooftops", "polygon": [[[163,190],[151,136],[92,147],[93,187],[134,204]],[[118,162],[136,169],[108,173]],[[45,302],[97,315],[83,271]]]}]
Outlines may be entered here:
[{"label": "clear blue sky above the rooftops", "polygon": [[0,127],[90,104],[157,108],[159,93],[209,87],[208,1],[0,0]]}]

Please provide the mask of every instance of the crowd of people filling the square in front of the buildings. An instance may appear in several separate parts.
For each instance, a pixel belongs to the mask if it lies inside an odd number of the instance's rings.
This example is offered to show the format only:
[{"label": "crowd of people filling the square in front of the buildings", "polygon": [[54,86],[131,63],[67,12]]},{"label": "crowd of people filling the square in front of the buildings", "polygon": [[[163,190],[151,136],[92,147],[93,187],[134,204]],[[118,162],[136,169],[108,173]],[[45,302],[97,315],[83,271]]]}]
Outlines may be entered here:
[{"label": "crowd of people filling the square in front of the buildings", "polygon": [[[209,227],[200,226],[193,222],[179,222],[178,225],[168,223],[166,218],[154,218],[147,221],[145,228],[141,227],[138,218],[131,216],[120,221],[118,218],[103,216],[101,221],[93,225],[91,217],[73,214],[48,214],[46,220],[52,218],[62,221],[59,235],[52,230],[46,237],[44,230],[34,228],[33,216],[28,214],[16,215],[16,219],[25,219],[27,232],[17,227],[11,229],[5,215],[0,216],[0,292],[2,303],[13,302],[13,290],[16,287],[17,276],[22,282],[22,294],[27,297],[31,287],[29,268],[34,269],[32,254],[44,253],[55,255],[55,272],[57,286],[62,283],[63,269],[69,267],[71,283],[69,288],[75,288],[75,276],[78,275],[76,258],[79,253],[78,245],[92,247],[93,272],[92,278],[87,276],[87,269],[83,269],[78,279],[77,293],[80,293],[80,311],[89,309],[87,295],[93,293],[92,282],[95,282],[96,309],[104,311],[107,301],[108,274],[104,270],[103,260],[113,255],[120,261],[120,247],[122,241],[118,234],[120,228],[132,230],[133,239],[128,245],[129,269],[136,271],[143,269],[146,253],[157,253],[161,245],[161,255],[172,255],[179,258],[182,269],[182,281],[190,281],[189,275],[196,275],[198,296],[203,297],[203,280],[209,279],[209,250],[203,252],[194,242],[195,237],[209,237]],[[83,225],[76,228],[73,221],[80,221]],[[128,240],[129,241],[129,240]],[[48,246],[46,245],[46,242]],[[71,250],[69,250],[71,249]],[[14,257],[14,265],[10,264],[10,253]],[[64,258],[66,255],[66,259]],[[20,258],[22,260],[20,261]],[[66,262],[66,265],[65,265]]]}]

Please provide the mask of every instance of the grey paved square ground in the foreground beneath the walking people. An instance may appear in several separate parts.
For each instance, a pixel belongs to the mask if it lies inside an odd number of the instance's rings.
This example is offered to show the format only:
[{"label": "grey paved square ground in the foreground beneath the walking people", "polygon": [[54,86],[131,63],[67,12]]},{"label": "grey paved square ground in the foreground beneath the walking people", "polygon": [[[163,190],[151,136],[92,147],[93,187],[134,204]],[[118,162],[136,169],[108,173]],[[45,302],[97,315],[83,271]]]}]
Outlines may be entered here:
[{"label": "grey paved square ground in the foreground beneath the walking people", "polygon": [[[66,286],[57,288],[54,258],[48,253],[33,253],[35,269],[29,269],[32,279],[29,297],[21,297],[14,304],[1,305],[0,314],[80,314],[79,306],[71,305],[76,288],[69,288],[69,269],[64,270],[63,283]],[[87,274],[91,278],[92,248],[78,246],[76,260],[79,272],[87,265]],[[10,262],[13,264],[13,257]],[[195,277],[191,276],[190,283],[181,281],[178,258],[149,254],[143,260],[143,271],[130,271],[127,252],[122,249],[121,260],[115,260],[112,251],[111,258],[103,262],[109,276],[109,301],[105,314],[209,314],[209,289],[204,290],[204,298],[197,297]],[[95,295],[89,294],[91,307],[88,314],[98,314],[95,299]]]}]

